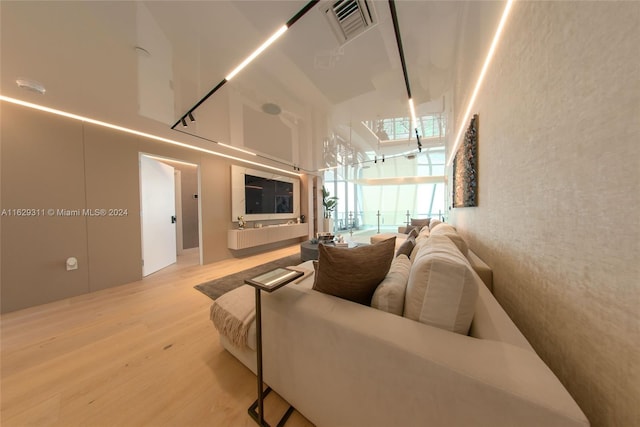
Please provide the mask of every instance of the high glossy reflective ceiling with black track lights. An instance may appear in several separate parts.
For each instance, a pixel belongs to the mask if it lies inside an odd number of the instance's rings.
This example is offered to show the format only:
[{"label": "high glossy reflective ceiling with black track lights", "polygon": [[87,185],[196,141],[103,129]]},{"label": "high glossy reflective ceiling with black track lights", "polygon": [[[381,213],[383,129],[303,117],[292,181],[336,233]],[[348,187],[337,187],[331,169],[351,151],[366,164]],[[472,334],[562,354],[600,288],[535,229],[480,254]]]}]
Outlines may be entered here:
[{"label": "high glossy reflective ceiling with black track lights", "polygon": [[[361,3],[375,22],[346,43],[325,16],[335,2],[321,1],[198,107],[195,123],[170,129],[306,3],[3,0],[1,93],[196,145],[243,147],[308,170],[325,165],[322,146],[336,138],[359,152],[415,149],[415,140],[385,148],[362,124],[409,116],[387,1]],[[418,116],[445,111],[456,58],[478,54],[457,51],[461,31],[471,31],[463,25],[466,7],[396,1]],[[22,77],[41,82],[46,94],[19,89]],[[264,104],[280,114],[262,118]],[[278,148],[284,134],[291,143]]]}]

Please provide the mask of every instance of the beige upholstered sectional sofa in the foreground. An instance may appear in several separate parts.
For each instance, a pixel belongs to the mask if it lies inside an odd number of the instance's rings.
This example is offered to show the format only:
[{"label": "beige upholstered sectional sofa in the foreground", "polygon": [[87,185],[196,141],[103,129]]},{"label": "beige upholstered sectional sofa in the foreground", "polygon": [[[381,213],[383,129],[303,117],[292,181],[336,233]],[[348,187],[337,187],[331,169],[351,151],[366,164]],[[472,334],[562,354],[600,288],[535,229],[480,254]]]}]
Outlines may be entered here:
[{"label": "beige upholstered sectional sofa in the foreground", "polygon": [[[408,274],[403,315],[315,291],[313,276],[263,294],[265,382],[317,426],[589,425],[480,279],[455,229],[425,234],[388,274],[395,282]],[[458,283],[442,286],[451,277]],[[398,313],[390,309],[398,291],[385,289],[374,305]],[[447,293],[466,307],[445,307],[434,320]],[[253,329],[247,346],[221,341],[255,372]]]}]

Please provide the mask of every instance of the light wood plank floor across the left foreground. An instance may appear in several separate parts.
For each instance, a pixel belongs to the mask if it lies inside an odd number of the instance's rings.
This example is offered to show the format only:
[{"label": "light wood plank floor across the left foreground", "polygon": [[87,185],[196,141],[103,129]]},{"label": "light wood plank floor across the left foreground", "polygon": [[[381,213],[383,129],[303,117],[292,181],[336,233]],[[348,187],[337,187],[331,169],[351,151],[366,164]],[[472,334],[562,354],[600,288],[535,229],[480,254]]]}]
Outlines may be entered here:
[{"label": "light wood plank floor across the left foreground", "polygon": [[[0,424],[254,426],[256,377],[222,349],[193,286],[298,250],[206,266],[192,250],[139,282],[2,315]],[[267,421],[286,407],[271,393]],[[308,425],[297,412],[287,423]]]}]

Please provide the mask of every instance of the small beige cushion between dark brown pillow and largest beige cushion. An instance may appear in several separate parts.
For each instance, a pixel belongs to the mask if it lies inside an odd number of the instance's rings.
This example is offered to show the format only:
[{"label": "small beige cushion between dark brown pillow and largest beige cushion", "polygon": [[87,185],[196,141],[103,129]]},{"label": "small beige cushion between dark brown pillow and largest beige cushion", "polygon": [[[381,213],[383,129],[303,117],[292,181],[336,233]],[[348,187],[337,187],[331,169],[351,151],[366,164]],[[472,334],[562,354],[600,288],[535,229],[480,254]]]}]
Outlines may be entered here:
[{"label": "small beige cushion between dark brown pillow and largest beige cushion", "polygon": [[373,293],[371,307],[402,316],[410,270],[411,261],[406,255],[394,258],[389,272]]}]

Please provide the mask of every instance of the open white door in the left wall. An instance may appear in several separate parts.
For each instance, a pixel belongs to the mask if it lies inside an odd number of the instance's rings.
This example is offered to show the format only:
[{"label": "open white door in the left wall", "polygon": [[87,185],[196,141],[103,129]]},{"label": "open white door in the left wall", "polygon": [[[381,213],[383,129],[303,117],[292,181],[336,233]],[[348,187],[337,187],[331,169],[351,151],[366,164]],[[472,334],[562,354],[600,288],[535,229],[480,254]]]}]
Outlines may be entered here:
[{"label": "open white door in the left wall", "polygon": [[174,169],[140,156],[142,275],[176,262]]}]

